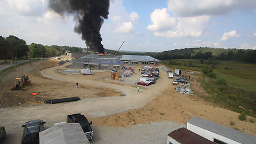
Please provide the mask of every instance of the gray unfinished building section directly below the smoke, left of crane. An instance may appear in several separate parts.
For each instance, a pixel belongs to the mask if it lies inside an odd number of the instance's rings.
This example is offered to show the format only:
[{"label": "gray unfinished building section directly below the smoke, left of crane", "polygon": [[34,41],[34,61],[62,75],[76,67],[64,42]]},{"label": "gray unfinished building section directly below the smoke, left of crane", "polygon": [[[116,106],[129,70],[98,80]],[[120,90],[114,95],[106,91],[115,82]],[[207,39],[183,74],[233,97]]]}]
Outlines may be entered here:
[{"label": "gray unfinished building section directly below the smoke, left of crane", "polygon": [[[110,55],[111,56],[111,55]],[[89,54],[82,58],[72,61],[73,68],[90,68],[90,69],[123,69],[123,63],[120,59],[107,57],[107,55]]]}]

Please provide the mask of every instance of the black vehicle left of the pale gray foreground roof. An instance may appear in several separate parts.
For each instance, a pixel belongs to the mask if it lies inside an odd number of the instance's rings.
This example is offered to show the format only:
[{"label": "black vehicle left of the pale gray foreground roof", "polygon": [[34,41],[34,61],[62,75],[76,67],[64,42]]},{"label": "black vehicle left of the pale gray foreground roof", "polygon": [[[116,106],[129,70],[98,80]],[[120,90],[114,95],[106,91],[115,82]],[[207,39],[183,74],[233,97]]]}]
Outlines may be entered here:
[{"label": "black vehicle left of the pale gray foreground roof", "polygon": [[44,122],[41,119],[28,121],[24,127],[21,144],[26,143],[39,143],[39,132],[44,130]]}]

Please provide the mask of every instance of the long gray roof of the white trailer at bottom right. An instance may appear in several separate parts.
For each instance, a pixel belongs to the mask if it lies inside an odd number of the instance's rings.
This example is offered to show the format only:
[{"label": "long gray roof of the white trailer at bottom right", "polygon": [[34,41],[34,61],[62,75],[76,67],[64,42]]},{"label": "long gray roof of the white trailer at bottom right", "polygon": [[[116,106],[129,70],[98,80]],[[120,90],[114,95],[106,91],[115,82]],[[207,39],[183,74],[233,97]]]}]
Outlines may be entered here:
[{"label": "long gray roof of the white trailer at bottom right", "polygon": [[222,135],[223,137],[226,137],[228,139],[231,139],[240,143],[248,143],[248,144],[256,143],[256,137],[254,137],[253,135],[231,129],[230,127],[208,121],[201,117],[195,116],[193,118],[190,118],[187,121],[187,123],[196,125],[198,127],[201,127],[202,129],[211,131],[213,133],[217,133],[219,135]]}]

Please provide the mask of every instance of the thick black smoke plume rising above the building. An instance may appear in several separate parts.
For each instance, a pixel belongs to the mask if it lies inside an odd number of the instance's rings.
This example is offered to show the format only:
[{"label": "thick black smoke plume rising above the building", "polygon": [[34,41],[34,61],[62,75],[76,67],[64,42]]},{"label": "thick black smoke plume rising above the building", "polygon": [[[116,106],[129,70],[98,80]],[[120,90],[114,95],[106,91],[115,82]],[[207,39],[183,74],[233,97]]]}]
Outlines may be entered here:
[{"label": "thick black smoke plume rising above the building", "polygon": [[109,0],[50,0],[49,7],[59,15],[74,15],[74,31],[92,51],[104,53],[100,28],[108,19]]}]

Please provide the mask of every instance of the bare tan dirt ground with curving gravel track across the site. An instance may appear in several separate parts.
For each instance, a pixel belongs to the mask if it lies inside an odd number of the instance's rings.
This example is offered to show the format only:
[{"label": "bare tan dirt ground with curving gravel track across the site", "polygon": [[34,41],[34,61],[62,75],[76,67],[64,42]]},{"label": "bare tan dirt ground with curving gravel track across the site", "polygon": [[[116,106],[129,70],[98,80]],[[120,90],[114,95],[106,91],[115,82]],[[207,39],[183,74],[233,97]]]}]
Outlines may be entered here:
[{"label": "bare tan dirt ground with curving gravel track across the site", "polygon": [[[132,77],[118,82],[110,80],[109,71],[104,70],[92,70],[95,73],[92,76],[62,74],[60,71],[68,69],[66,66],[70,63],[57,66],[57,62],[33,62],[0,76],[0,125],[5,125],[11,131],[20,129],[18,127],[31,119],[58,123],[73,113],[85,114],[94,125],[111,127],[162,121],[186,124],[191,117],[199,116],[256,135],[256,123],[242,122],[238,119],[238,113],[197,97],[197,94],[207,94],[199,84],[200,75],[190,75],[195,95],[180,94],[175,92],[172,79],[167,78],[159,66],[161,78],[156,84],[140,86],[140,92],[137,92],[134,83],[141,77],[138,66]],[[29,75],[31,86],[26,86],[23,92],[11,92],[15,77],[21,77],[22,73]],[[75,86],[77,82],[78,89]],[[38,95],[31,95],[33,92]],[[126,96],[121,96],[123,94]],[[55,105],[43,103],[46,99],[68,97],[80,97],[81,101]],[[231,121],[235,125],[231,126]],[[21,139],[21,131],[11,133],[13,138]]]}]

